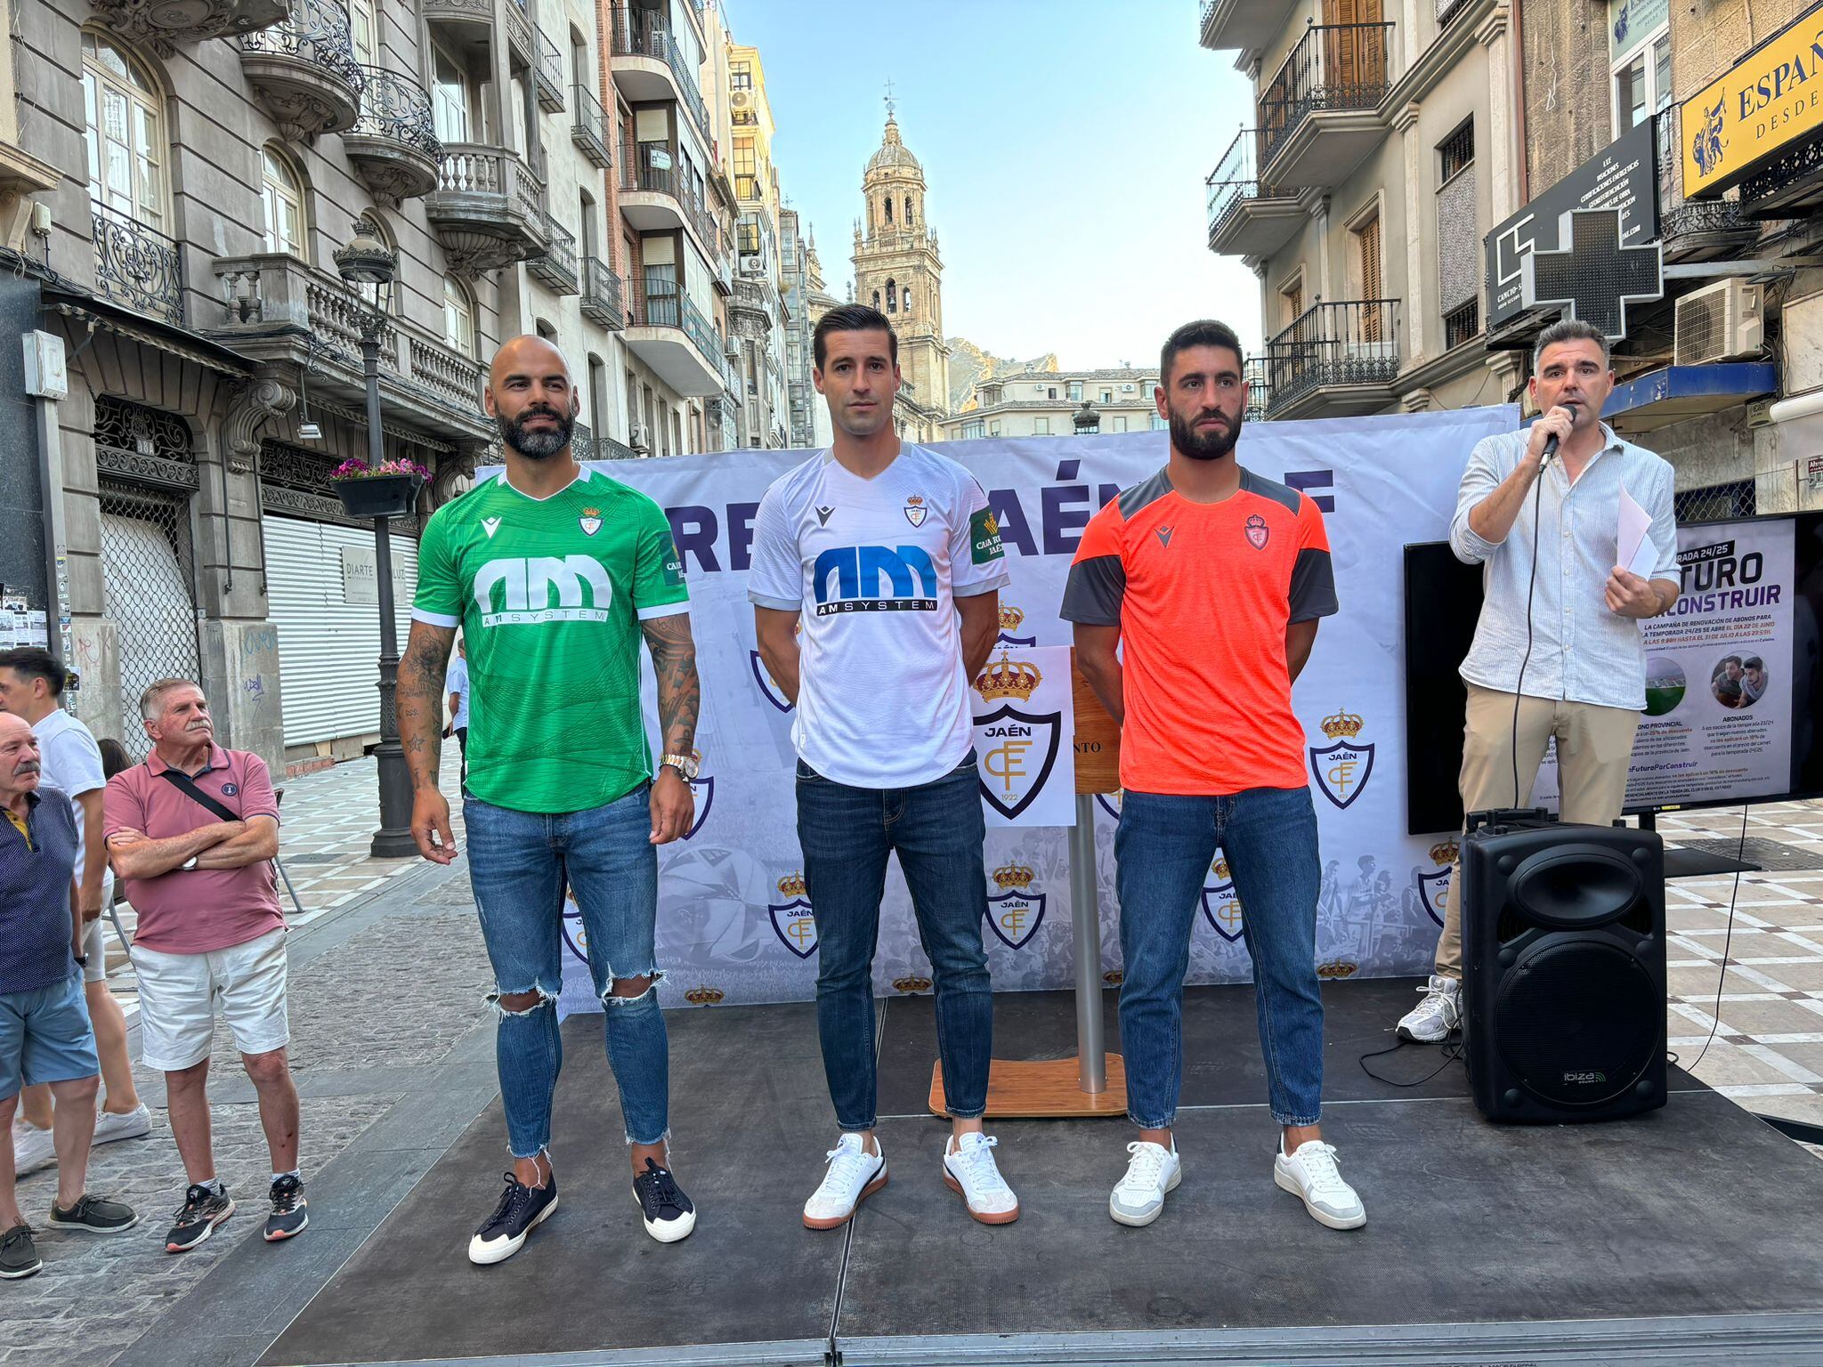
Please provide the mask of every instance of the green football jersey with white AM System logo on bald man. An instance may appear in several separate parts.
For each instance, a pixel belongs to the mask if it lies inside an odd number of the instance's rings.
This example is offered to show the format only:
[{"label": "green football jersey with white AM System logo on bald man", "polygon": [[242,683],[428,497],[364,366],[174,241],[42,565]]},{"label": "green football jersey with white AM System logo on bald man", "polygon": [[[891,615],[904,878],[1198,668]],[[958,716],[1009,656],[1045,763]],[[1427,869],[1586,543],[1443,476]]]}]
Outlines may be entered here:
[{"label": "green football jersey with white AM System logo on bald man", "polygon": [[545,499],[501,478],[438,509],[412,616],[463,629],[469,791],[585,811],[647,780],[640,622],[687,611],[664,510],[596,470]]}]

